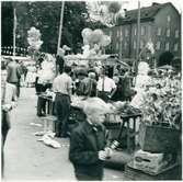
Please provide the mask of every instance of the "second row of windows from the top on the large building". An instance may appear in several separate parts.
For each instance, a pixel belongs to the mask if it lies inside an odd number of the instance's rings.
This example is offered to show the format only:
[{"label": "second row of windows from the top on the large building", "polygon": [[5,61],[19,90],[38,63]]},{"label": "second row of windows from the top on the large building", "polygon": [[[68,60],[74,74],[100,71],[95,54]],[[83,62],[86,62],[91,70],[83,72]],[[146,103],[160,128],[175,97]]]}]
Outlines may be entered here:
[{"label": "second row of windows from the top on the large building", "polygon": [[[119,49],[119,46],[122,46],[122,45],[119,45],[119,43],[117,42],[116,43],[116,49],[117,50]],[[162,46],[162,43],[161,42],[157,42],[157,44],[155,45],[155,49],[159,50],[159,49],[161,49],[161,46]],[[145,47],[145,42],[141,41],[140,42],[140,48],[144,48],[144,47]],[[124,48],[125,49],[127,48],[127,42],[124,43]],[[134,49],[136,49],[136,48],[137,48],[137,43],[134,42]],[[179,44],[175,43],[174,46],[173,46],[173,50],[178,52],[178,48],[179,48]],[[170,43],[165,43],[165,50],[170,50]]]}]

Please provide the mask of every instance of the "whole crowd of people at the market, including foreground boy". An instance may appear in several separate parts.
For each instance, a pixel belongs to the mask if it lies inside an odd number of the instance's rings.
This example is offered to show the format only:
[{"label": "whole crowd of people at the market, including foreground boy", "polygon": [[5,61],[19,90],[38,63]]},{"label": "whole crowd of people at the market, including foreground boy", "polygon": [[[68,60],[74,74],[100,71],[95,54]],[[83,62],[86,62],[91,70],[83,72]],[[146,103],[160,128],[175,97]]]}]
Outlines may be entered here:
[{"label": "whole crowd of people at the market, including foreground boy", "polygon": [[[133,77],[130,69],[121,68],[121,71],[114,71],[111,78],[105,66],[73,69],[67,66],[62,56],[58,55],[54,58],[49,54],[41,55],[36,65],[28,69],[23,62],[10,58],[8,64],[1,65],[1,75],[3,76],[1,76],[2,146],[10,128],[9,112],[15,106],[14,101],[20,96],[23,79],[35,86],[37,116],[46,115],[46,99],[39,95],[47,91],[54,93],[53,114],[57,116],[56,137],[70,137],[69,159],[73,163],[78,180],[103,178],[103,161],[112,155],[102,125],[105,114],[110,112],[108,102],[128,102],[135,107],[140,107],[145,100],[144,93],[152,84],[155,86],[156,81],[156,86],[161,87],[162,81],[167,84],[170,83],[170,79],[175,80],[176,83],[181,80],[179,75],[174,77],[170,71],[156,70],[152,73],[146,62],[141,68],[139,67],[137,77]],[[161,83],[158,80],[161,80]],[[85,120],[73,128],[70,135],[68,120],[72,95],[83,98]]]}]

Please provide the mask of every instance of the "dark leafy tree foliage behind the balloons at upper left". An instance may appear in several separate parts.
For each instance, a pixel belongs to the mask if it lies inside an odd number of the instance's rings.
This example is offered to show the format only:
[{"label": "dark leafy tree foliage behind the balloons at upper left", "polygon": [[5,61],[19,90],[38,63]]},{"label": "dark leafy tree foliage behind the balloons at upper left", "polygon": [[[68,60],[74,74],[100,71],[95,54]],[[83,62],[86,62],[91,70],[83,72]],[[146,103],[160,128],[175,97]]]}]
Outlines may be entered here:
[{"label": "dark leafy tree foliage behind the balloons at upper left", "polygon": [[[18,29],[16,29],[16,45],[27,47],[27,31],[34,26],[42,33],[42,45],[43,52],[56,53],[58,44],[58,32],[60,22],[61,1],[19,1],[11,3],[4,2],[9,5],[10,13],[13,8],[16,8]],[[9,18],[9,26],[13,26],[13,15]],[[4,31],[2,34],[5,35],[5,31],[9,27],[4,23]],[[84,27],[99,29],[101,23],[91,22],[88,14],[88,9],[84,1],[65,1],[64,10],[64,25],[61,34],[61,46],[67,45],[72,48],[73,53],[77,53],[82,45],[81,32]],[[9,29],[12,31],[12,27]],[[13,31],[12,31],[13,32]],[[11,34],[12,35],[12,34]],[[12,37],[11,37],[12,38]],[[11,44],[12,45],[12,44]]]}]

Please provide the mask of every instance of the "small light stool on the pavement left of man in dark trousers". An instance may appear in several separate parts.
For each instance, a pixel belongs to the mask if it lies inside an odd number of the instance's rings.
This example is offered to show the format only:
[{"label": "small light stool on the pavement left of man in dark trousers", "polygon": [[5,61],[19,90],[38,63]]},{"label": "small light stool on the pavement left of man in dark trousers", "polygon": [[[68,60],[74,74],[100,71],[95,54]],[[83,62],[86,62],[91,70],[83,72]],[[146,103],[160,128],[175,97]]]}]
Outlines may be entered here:
[{"label": "small light stool on the pavement left of man in dark trousers", "polygon": [[42,117],[42,120],[44,133],[55,132],[55,121],[57,120],[56,116],[47,115],[46,117]]}]

